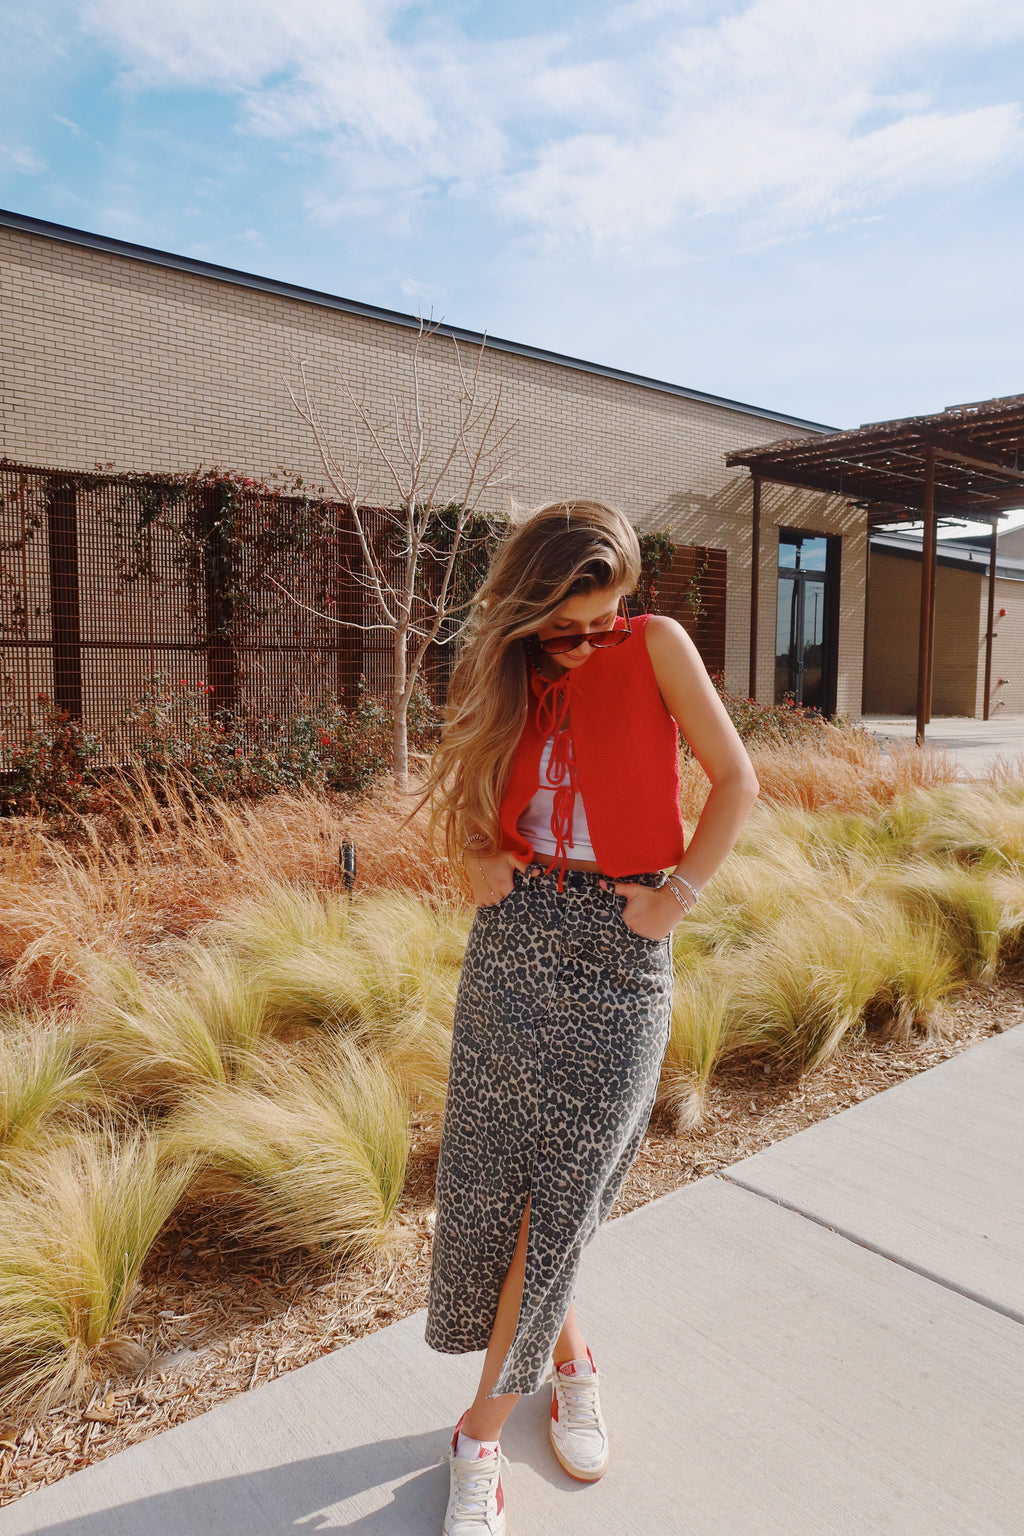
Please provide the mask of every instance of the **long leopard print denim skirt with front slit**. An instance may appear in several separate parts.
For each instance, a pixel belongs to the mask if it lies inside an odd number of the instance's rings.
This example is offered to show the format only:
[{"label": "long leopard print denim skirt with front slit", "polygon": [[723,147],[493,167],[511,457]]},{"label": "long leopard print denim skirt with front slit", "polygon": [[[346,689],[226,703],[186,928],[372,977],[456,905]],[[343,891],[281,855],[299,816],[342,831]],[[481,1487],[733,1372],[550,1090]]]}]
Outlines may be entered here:
[{"label": "long leopard print denim skirt with front slit", "polygon": [[[454,1011],[427,1344],[487,1349],[530,1197],[519,1322],[490,1393],[536,1392],[651,1118],[672,1009],[671,938],[626,928],[599,876],[539,865],[476,911]],[[662,872],[631,876],[660,885]]]}]

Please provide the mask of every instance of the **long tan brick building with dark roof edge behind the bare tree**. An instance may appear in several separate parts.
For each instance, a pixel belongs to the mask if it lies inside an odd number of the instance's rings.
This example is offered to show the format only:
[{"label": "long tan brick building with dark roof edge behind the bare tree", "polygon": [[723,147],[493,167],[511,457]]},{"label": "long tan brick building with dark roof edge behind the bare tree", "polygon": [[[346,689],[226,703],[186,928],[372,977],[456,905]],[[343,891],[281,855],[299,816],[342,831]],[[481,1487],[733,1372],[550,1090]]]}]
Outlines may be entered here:
[{"label": "long tan brick building with dark roof edge behind the bare tree", "polygon": [[[336,438],[348,421],[339,379],[381,415],[410,381],[410,316],[20,215],[0,214],[0,452],[21,464],[158,473],[216,464],[261,478],[281,467],[318,481],[287,393],[296,359]],[[445,326],[428,346],[439,435],[451,419],[453,338],[470,361],[482,341]],[[494,338],[482,370],[485,389],[500,389],[502,421],[514,424],[502,495],[608,496],[639,528],[725,550],[726,680],[745,693],[751,487],[725,453],[827,429]],[[781,485],[765,485],[761,507],[758,697],[775,685],[780,528],[829,538],[829,702],[858,716],[864,513]]]}]

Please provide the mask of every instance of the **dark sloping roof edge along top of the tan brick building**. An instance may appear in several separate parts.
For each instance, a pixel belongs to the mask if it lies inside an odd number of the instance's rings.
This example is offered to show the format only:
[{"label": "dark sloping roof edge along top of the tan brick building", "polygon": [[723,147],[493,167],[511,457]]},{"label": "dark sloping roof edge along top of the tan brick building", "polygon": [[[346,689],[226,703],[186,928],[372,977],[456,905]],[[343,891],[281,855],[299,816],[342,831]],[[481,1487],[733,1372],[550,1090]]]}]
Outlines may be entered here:
[{"label": "dark sloping roof edge along top of the tan brick building", "polygon": [[[58,240],[69,246],[84,246],[91,250],[106,250],[114,257],[126,257],[130,261],[146,261],[150,266],[172,267],[177,272],[190,272],[195,276],[210,278],[215,283],[232,283],[236,287],[256,289],[263,293],[276,293],[279,298],[298,300],[302,304],[316,304],[322,309],[339,309],[347,315],[361,315],[364,319],[378,319],[387,326],[402,326],[416,330],[419,316],[404,315],[401,310],[381,309],[376,304],[362,304],[356,300],[339,298],[335,293],[321,293],[318,289],[299,287],[295,283],[279,283],[276,278],[263,278],[253,272],[239,272],[235,267],[221,267],[212,261],[200,261],[195,257],[178,257],[170,250],[155,250],[150,246],[135,246],[127,240],[115,240],[112,235],[95,235],[84,229],[71,229],[66,224],[52,224],[45,218],[32,218],[29,214],[15,214],[0,209],[0,227],[17,229],[28,235],[40,235],[45,240]],[[682,384],[669,384],[665,379],[646,378],[643,373],[628,373],[625,369],[606,367],[602,362],[586,362],[582,358],[570,358],[562,352],[548,352],[545,347],[531,347],[520,341],[507,341],[502,336],[485,336],[479,330],[465,330],[461,326],[441,323],[438,330],[444,336],[454,336],[479,346],[487,341],[493,352],[511,352],[520,358],[533,358],[537,362],[553,362],[562,369],[576,369],[579,373],[594,373],[599,378],[616,379],[620,384],[636,384],[639,389],[652,389],[662,395],[677,395],[682,399],[700,401],[705,406],[718,406],[722,410],[735,410],[745,416],[760,416],[765,421],[781,421],[786,425],[803,427],[806,432],[835,432],[820,421],[804,421],[801,416],[789,416],[778,410],[763,410],[758,406],[746,406],[743,401],[726,399],[723,395],[708,395],[703,390],[685,389]]]}]

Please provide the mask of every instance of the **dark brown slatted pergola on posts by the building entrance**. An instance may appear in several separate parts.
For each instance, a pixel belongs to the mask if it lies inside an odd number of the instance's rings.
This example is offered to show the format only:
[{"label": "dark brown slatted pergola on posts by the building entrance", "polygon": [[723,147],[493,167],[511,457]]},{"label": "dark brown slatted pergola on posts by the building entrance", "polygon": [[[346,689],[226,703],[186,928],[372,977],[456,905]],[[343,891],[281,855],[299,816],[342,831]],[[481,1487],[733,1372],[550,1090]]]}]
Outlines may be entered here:
[{"label": "dark brown slatted pergola on posts by the building entrance", "polygon": [[803,485],[844,496],[867,513],[867,527],[921,522],[921,611],[918,621],[917,740],[932,714],[936,528],[970,518],[990,522],[989,625],[986,634],[984,717],[992,688],[996,528],[1001,516],[1024,507],[1024,395],[949,406],[933,416],[878,421],[827,436],[785,438],[726,455],[752,478],[751,676],[757,693],[757,619],[761,542],[761,482]]}]

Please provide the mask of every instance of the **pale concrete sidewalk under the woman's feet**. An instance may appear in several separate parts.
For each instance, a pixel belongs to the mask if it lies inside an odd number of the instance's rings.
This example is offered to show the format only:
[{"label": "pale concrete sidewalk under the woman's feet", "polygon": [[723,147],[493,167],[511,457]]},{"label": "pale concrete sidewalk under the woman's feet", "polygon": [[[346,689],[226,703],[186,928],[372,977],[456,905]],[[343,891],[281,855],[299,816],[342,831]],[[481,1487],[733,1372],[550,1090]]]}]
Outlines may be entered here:
[{"label": "pale concrete sidewalk under the woman's feet", "polygon": [[[579,1312],[613,1461],[550,1392],[502,1448],[510,1536],[1024,1530],[1024,1028],[609,1223]],[[0,1511],[2,1536],[439,1536],[479,1355],[422,1313]]]}]

